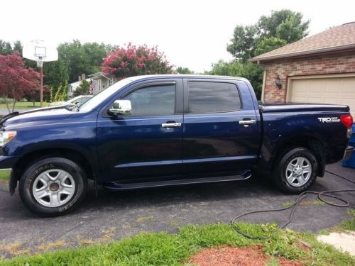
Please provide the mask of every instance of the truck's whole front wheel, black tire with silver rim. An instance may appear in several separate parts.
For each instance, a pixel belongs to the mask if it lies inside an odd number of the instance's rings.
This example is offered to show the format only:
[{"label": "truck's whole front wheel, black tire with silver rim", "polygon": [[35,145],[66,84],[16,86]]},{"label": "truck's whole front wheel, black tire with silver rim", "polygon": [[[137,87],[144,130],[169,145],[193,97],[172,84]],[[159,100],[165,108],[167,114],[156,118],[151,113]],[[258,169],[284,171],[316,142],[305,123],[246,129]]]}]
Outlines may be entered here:
[{"label": "truck's whole front wheel, black tire with silver rim", "polygon": [[59,216],[77,208],[87,192],[87,178],[79,165],[50,157],[30,165],[21,175],[23,204],[41,216]]}]

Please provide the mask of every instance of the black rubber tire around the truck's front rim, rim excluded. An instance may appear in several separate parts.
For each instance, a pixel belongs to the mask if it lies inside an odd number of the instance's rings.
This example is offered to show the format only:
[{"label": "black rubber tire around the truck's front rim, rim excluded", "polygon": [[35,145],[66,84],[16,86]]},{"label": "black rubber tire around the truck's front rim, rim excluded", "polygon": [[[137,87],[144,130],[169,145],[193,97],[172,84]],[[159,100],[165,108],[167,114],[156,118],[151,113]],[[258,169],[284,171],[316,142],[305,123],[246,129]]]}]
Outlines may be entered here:
[{"label": "black rubber tire around the truck's front rim, rim excluded", "polygon": [[[33,184],[39,174],[50,170],[60,169],[72,175],[75,181],[74,196],[66,204],[58,207],[48,207],[40,204],[33,196]],[[41,216],[60,216],[67,214],[80,205],[87,191],[87,179],[81,168],[71,160],[62,157],[52,157],[30,165],[21,175],[19,192],[23,204]]]}]

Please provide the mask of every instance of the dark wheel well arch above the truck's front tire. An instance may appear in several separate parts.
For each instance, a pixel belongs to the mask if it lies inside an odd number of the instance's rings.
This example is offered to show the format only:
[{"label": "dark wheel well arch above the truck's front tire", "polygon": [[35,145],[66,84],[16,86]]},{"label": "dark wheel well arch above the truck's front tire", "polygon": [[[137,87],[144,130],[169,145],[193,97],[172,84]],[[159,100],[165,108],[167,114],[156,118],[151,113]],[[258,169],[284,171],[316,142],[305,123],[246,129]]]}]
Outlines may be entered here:
[{"label": "dark wheel well arch above the truck's front tire", "polygon": [[64,157],[68,160],[76,162],[82,167],[84,172],[87,174],[88,179],[94,179],[92,167],[87,159],[76,150],[64,149],[64,148],[52,148],[44,150],[36,150],[32,153],[28,153],[25,156],[21,157],[16,165],[13,167],[13,178],[19,180],[23,171],[28,167],[32,162],[42,160],[47,157]]}]

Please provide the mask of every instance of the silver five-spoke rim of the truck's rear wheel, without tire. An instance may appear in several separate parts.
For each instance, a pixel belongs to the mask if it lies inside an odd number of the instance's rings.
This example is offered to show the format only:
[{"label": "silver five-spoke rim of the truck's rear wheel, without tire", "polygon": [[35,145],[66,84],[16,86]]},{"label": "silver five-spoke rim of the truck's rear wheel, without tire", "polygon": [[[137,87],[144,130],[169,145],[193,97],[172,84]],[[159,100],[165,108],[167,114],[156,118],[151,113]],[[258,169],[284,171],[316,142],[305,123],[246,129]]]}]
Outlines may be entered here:
[{"label": "silver five-spoke rim of the truck's rear wheel, without tire", "polygon": [[306,157],[295,157],[286,167],[286,180],[293,187],[301,187],[312,176],[312,165]]}]

